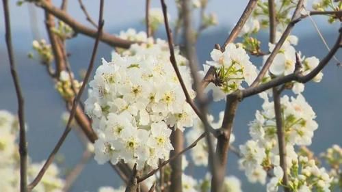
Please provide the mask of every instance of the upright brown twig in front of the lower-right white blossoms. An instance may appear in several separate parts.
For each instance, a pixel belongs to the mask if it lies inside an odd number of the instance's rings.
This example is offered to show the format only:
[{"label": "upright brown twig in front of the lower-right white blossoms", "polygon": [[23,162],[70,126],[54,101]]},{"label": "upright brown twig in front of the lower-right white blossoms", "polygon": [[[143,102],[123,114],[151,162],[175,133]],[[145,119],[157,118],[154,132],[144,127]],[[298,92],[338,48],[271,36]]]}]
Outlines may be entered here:
[{"label": "upright brown twig in front of the lower-right white blossoms", "polygon": [[276,128],[277,128],[277,137],[278,137],[278,148],[279,148],[279,156],[280,156],[280,167],[284,172],[284,176],[282,178],[282,184],[284,185],[284,191],[289,192],[289,178],[287,175],[287,161],[286,161],[286,143],[285,143],[285,129],[283,128],[283,120],[282,120],[282,109],[280,104],[280,92],[276,87],[272,88],[273,91],[273,99],[274,99],[274,113],[276,115]]}]

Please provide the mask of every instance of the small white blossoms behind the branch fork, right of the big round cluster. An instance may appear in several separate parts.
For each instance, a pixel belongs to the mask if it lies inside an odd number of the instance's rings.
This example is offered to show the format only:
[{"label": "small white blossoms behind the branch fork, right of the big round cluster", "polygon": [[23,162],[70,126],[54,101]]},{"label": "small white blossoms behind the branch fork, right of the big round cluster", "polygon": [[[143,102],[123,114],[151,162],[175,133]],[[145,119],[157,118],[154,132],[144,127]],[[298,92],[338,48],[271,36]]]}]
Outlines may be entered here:
[{"label": "small white blossoms behind the branch fork, right of the big round cluster", "polygon": [[[211,126],[213,128],[220,128],[221,127],[222,121],[223,121],[223,118],[224,118],[224,111],[220,112],[218,122],[214,122],[213,115],[207,115],[207,116],[208,116],[207,120],[208,120],[209,124],[211,124]],[[189,131],[187,131],[187,133],[185,134],[187,145],[189,146],[190,144],[192,144],[204,132],[205,132],[205,128],[203,126],[202,121],[199,120],[199,119],[194,121],[193,128],[189,129]],[[233,143],[234,140],[235,140],[235,137],[234,137],[234,135],[232,133],[231,134],[230,143]],[[215,146],[216,145],[216,141],[217,141],[215,139],[215,137],[213,137],[212,141],[213,141],[213,144]],[[208,146],[207,146],[207,141],[205,141],[205,139],[202,139],[202,140],[198,141],[196,147],[194,147],[194,148],[192,148],[192,150],[190,150],[190,155],[192,157],[192,161],[194,162],[194,164],[196,166],[207,166],[208,165]]]}]

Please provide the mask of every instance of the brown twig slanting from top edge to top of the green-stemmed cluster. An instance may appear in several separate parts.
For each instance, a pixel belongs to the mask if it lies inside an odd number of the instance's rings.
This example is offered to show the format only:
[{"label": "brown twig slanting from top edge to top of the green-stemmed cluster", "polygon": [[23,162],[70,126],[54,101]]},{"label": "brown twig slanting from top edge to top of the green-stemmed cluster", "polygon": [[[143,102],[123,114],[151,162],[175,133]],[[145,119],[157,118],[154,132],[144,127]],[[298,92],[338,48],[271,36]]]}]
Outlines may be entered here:
[{"label": "brown twig slanting from top edge to top of the green-stemmed cluster", "polygon": [[248,2],[244,12],[242,13],[241,17],[239,18],[239,21],[237,22],[237,25],[235,25],[235,27],[231,31],[231,34],[228,36],[224,44],[221,46],[221,51],[224,51],[224,49],[226,49],[227,44],[233,42],[237,38],[242,27],[244,27],[246,21],[250,17],[250,14],[254,10],[255,6],[257,6],[257,2],[257,0],[250,0]]}]

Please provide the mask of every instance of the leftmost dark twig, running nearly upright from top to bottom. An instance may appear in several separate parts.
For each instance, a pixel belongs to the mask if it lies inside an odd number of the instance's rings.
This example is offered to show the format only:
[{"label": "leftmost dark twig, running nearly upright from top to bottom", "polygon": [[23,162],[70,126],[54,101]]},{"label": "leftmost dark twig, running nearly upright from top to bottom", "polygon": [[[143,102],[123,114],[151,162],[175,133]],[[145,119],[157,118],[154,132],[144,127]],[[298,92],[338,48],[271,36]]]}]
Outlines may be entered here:
[{"label": "leftmost dark twig, running nearly upright from top to bottom", "polygon": [[19,118],[19,155],[20,155],[20,189],[21,192],[27,191],[27,143],[25,133],[25,111],[24,111],[24,97],[21,92],[21,85],[18,74],[16,73],[16,63],[14,61],[14,53],[12,47],[10,9],[8,8],[8,1],[3,0],[3,14],[5,18],[5,39],[7,44],[8,57],[10,60],[10,68],[14,87],[16,90],[16,97],[18,99],[18,118]]}]

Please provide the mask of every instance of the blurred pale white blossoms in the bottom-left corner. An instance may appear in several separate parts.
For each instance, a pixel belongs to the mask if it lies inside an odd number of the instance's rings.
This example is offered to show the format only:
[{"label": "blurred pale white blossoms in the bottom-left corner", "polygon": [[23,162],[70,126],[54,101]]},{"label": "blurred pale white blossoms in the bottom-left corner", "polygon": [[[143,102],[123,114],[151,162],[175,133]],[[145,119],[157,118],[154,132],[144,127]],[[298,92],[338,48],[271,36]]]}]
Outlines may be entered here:
[{"label": "blurred pale white blossoms in the bottom-left corner", "polygon": [[[0,110],[0,191],[19,191],[19,154],[18,121],[8,111]],[[42,163],[28,163],[28,181],[37,176]],[[60,192],[64,187],[64,180],[58,177],[59,170],[51,164],[42,180],[34,188],[34,192]]]}]

